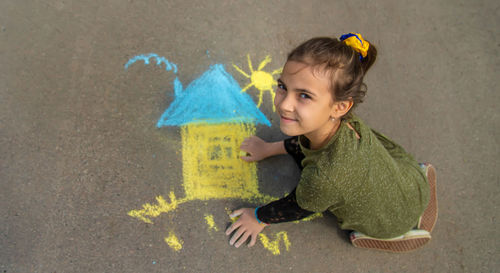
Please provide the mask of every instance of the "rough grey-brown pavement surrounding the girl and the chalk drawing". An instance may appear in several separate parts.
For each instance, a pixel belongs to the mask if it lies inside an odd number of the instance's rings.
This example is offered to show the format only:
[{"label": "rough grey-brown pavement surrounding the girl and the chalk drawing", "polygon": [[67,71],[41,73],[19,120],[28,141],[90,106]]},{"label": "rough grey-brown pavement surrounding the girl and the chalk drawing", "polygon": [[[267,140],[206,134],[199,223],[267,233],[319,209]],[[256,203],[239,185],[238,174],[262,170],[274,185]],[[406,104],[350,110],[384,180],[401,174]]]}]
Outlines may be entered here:
[{"label": "rough grey-brown pavement surrounding the girl and the chalk drawing", "polygon": [[[497,1],[0,1],[0,272],[498,272],[500,14]],[[127,213],[182,197],[181,135],[156,122],[174,74],[124,69],[154,52],[187,85],[221,63],[281,67],[313,36],[355,31],[378,60],[357,113],[438,172],[432,241],[407,254],[357,249],[324,216],[273,225],[280,255],[229,246],[227,209],[193,201],[148,224]],[[248,94],[257,99],[256,90]],[[267,93],[266,93],[267,94]],[[267,94],[268,95],[268,94]],[[283,138],[271,102],[260,108]],[[286,156],[258,164],[261,191],[299,178]],[[212,214],[218,231],[209,230]],[[174,232],[183,248],[164,238]],[[495,258],[497,257],[497,258]]]}]

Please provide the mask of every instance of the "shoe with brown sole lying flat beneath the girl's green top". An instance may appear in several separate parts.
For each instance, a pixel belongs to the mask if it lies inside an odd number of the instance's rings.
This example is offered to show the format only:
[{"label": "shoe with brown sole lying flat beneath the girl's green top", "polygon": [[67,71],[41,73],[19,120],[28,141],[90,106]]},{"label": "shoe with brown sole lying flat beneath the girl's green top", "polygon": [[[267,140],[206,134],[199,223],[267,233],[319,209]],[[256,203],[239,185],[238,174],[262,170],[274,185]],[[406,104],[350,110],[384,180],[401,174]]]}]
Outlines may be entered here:
[{"label": "shoe with brown sole lying flat beneath the girl's green top", "polygon": [[369,248],[389,252],[407,252],[422,247],[431,240],[427,230],[414,229],[392,239],[376,239],[353,231],[350,236],[355,247]]}]

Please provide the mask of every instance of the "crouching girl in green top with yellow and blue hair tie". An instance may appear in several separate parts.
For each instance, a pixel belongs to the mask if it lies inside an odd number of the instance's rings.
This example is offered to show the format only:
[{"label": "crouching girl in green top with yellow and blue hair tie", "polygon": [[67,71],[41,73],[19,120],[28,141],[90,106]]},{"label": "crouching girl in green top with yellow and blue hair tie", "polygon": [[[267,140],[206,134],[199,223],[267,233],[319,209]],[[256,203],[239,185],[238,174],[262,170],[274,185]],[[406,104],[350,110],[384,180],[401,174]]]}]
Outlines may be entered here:
[{"label": "crouching girl in green top with yellow and blue hair tie", "polygon": [[437,219],[435,170],[419,165],[352,113],[366,93],[363,76],[377,50],[360,34],[313,38],[289,55],[274,104],[289,139],[268,143],[253,136],[241,144],[246,161],[290,154],[301,169],[286,197],[242,208],[226,231],[239,247],[269,224],[330,211],[357,247],[408,251],[430,240]]}]

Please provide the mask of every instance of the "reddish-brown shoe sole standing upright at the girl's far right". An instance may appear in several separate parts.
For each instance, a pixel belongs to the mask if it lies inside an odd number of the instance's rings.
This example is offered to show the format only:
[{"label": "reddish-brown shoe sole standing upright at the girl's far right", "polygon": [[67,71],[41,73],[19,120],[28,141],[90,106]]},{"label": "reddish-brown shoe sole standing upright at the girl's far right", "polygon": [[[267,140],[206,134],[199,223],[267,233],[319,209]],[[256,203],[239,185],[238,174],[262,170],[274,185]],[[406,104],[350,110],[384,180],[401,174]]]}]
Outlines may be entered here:
[{"label": "reddish-brown shoe sole standing upright at the girl's far right", "polygon": [[436,225],[437,216],[438,216],[438,207],[437,207],[437,193],[436,193],[436,169],[429,163],[421,163],[420,167],[425,172],[425,176],[427,176],[427,181],[429,182],[430,188],[430,199],[427,208],[424,210],[424,213],[420,217],[418,222],[418,229],[424,229],[428,232],[431,232],[434,226]]}]

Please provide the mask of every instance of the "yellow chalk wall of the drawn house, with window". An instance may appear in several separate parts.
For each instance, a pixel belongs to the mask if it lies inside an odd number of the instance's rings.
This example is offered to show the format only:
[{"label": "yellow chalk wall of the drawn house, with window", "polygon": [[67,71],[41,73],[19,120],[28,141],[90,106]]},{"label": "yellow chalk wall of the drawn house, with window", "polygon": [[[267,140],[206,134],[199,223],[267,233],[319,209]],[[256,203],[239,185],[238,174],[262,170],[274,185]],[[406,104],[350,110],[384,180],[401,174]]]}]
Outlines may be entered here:
[{"label": "yellow chalk wall of the drawn house, with window", "polygon": [[255,134],[248,123],[192,123],[181,127],[187,200],[261,196],[255,164],[241,160],[240,144]]}]

